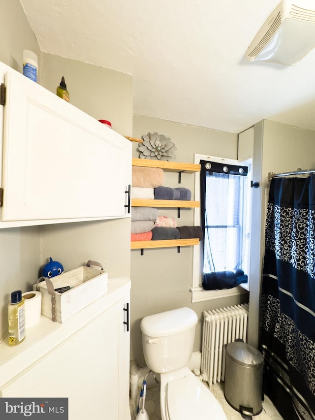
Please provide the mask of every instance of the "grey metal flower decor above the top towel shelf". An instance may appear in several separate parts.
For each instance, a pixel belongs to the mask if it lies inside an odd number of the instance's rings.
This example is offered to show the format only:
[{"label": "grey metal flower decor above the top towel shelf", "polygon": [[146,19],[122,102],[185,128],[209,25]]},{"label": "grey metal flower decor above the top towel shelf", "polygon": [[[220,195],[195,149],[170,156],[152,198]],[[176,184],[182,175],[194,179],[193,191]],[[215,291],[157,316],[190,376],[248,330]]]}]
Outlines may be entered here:
[{"label": "grey metal flower decor above the top towel shelf", "polygon": [[163,134],[148,133],[143,135],[143,142],[138,147],[140,159],[154,159],[157,161],[174,161],[174,151],[177,150],[169,137]]}]

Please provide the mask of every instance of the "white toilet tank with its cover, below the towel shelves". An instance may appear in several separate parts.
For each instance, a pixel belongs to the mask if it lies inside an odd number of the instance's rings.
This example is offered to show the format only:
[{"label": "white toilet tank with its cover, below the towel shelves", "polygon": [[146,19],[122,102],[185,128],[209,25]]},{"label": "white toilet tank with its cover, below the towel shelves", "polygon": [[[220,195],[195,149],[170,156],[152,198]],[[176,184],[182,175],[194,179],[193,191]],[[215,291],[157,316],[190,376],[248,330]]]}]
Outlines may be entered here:
[{"label": "white toilet tank with its cover, below the towel shelves", "polygon": [[192,354],[197,321],[196,313],[189,308],[144,317],[140,328],[147,366],[157,373],[186,366]]}]

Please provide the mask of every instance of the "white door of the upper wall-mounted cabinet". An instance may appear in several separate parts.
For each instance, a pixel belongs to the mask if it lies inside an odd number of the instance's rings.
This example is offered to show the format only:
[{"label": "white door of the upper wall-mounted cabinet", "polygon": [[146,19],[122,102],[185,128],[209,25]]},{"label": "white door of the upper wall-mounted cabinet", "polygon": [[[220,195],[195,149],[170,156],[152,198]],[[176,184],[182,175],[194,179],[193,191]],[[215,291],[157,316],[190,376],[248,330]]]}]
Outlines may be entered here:
[{"label": "white door of the upper wall-mounted cabinet", "polygon": [[5,85],[1,221],[127,216],[131,143],[14,70]]}]

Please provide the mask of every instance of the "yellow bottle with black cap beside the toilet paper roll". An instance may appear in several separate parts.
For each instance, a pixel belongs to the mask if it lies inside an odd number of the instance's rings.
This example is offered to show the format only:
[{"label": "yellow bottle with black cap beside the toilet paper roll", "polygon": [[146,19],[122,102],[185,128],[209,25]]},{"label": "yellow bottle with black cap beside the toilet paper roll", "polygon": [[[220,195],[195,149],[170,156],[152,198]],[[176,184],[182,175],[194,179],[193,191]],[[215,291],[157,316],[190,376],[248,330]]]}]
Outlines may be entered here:
[{"label": "yellow bottle with black cap beside the toilet paper roll", "polygon": [[22,291],[11,293],[8,304],[9,346],[17,346],[25,339],[25,303]]}]

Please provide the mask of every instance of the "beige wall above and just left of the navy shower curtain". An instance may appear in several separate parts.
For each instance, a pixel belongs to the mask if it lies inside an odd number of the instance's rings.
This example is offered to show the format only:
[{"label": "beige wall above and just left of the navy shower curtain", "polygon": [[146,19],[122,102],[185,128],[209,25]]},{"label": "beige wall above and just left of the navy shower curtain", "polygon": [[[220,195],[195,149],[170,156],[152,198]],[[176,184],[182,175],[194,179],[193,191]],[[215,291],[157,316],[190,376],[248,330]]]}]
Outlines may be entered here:
[{"label": "beige wall above and just left of the navy shower curtain", "polygon": [[266,201],[269,194],[268,172],[281,173],[297,168],[315,168],[315,131],[264,120],[254,127],[252,258],[249,336],[250,344],[258,344],[259,293],[264,252]]}]

